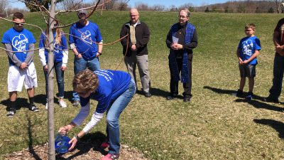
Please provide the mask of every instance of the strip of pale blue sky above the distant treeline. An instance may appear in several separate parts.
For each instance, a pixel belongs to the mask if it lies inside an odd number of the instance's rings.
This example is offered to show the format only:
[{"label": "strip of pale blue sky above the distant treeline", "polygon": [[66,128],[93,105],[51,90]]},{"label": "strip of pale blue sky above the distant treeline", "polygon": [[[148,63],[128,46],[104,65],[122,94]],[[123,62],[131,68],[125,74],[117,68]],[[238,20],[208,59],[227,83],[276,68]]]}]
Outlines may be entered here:
[{"label": "strip of pale blue sky above the distant treeline", "polygon": [[[1,0],[0,0],[1,1]],[[95,0],[83,0],[84,2],[91,2]],[[217,4],[217,3],[224,3],[229,0],[130,0],[129,6],[133,7],[136,3],[143,3],[148,4],[148,6],[153,6],[155,4],[164,5],[165,7],[175,5],[175,6],[181,6],[182,4],[191,3],[194,6],[202,6],[207,4]],[[25,4],[22,2],[19,2],[17,0],[9,0],[10,6],[12,8],[25,8]]]}]

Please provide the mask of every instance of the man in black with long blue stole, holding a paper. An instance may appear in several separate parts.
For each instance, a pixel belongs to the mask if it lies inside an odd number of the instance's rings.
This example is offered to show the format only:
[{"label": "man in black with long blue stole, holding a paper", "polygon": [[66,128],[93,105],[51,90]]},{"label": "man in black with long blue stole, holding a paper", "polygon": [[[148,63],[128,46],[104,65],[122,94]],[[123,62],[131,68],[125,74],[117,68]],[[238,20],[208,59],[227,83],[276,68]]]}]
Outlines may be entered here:
[{"label": "man in black with long blue stole, holding a paper", "polygon": [[190,22],[190,11],[180,9],[178,23],[168,33],[165,43],[170,48],[170,95],[173,100],[178,95],[178,81],[183,83],[183,101],[190,102],[192,97],[192,49],[197,47],[197,32]]}]

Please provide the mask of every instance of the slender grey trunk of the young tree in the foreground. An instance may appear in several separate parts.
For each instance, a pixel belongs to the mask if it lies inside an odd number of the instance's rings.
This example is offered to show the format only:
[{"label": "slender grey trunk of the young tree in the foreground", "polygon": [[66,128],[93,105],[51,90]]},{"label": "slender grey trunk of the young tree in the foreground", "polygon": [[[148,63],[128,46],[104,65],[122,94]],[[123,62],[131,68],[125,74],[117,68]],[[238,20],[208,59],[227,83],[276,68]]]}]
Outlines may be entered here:
[{"label": "slender grey trunk of the young tree in the foreground", "polygon": [[53,55],[53,27],[55,18],[56,0],[51,0],[50,17],[48,21],[48,160],[55,160],[55,139],[54,139],[54,55]]}]

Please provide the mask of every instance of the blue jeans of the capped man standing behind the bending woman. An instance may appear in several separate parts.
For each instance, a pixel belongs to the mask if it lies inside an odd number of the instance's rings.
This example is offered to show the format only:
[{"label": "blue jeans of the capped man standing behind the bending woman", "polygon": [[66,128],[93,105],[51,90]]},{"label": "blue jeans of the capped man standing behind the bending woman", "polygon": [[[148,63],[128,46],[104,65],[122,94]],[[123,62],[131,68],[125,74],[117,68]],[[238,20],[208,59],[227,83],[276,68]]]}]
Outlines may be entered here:
[{"label": "blue jeans of the capped man standing behind the bending woman", "polygon": [[[74,74],[80,73],[80,71],[89,68],[89,70],[99,70],[99,58],[94,58],[92,60],[84,60],[84,58],[74,59]],[[77,92],[73,91],[72,100],[80,101],[79,95]]]}]

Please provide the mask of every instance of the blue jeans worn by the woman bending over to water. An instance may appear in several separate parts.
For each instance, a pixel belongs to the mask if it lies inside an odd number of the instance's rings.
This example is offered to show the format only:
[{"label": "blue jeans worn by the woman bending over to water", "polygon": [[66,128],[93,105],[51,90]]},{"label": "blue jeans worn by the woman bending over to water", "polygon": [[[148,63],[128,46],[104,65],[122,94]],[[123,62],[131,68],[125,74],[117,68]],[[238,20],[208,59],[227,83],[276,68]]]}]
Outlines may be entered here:
[{"label": "blue jeans worn by the woman bending over to water", "polygon": [[129,88],[111,103],[107,110],[107,137],[109,140],[109,154],[119,154],[119,116],[131,101],[136,92],[136,84],[131,79]]}]

